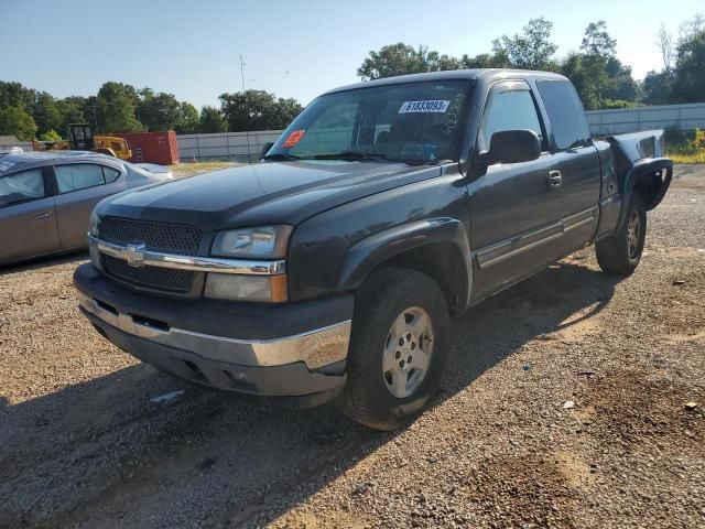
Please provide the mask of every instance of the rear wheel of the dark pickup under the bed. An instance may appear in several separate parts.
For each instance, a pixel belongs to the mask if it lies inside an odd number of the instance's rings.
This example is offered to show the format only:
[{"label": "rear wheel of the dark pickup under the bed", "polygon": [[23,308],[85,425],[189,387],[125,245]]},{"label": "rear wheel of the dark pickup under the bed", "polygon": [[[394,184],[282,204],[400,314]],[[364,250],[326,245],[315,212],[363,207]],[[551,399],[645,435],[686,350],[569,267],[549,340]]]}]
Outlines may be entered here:
[{"label": "rear wheel of the dark pickup under the bed", "polygon": [[647,236],[647,208],[641,195],[633,194],[622,228],[595,245],[597,262],[606,273],[629,276],[641,260]]}]

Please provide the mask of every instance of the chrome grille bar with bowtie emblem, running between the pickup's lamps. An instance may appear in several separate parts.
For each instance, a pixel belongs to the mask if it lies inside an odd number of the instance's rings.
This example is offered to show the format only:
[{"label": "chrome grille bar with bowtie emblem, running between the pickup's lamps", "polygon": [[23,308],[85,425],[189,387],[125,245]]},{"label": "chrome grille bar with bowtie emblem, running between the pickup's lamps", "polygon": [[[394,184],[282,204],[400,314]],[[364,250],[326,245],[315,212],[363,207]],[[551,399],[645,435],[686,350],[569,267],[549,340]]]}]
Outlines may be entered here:
[{"label": "chrome grille bar with bowtie emblem, running between the pickup's lamps", "polygon": [[144,249],[143,246],[115,245],[88,234],[88,245],[101,253],[127,261],[131,267],[161,267],[192,272],[239,273],[252,276],[279,276],[286,273],[283,259],[258,261],[250,259],[221,259],[217,257],[180,256]]}]

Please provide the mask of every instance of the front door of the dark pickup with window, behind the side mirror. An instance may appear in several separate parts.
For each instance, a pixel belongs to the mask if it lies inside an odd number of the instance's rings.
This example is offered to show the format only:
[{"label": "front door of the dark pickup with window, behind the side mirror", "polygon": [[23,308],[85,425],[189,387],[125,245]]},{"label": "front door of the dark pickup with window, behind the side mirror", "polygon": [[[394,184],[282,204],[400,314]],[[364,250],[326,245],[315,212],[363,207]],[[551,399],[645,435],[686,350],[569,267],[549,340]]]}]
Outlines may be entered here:
[{"label": "front door of the dark pickup with window, behind the side mirror", "polygon": [[551,185],[554,159],[536,101],[523,80],[502,80],[487,96],[476,152],[489,148],[492,133],[529,129],[542,140],[538,160],[489,165],[468,184],[473,299],[545,267],[560,252],[561,195]]}]

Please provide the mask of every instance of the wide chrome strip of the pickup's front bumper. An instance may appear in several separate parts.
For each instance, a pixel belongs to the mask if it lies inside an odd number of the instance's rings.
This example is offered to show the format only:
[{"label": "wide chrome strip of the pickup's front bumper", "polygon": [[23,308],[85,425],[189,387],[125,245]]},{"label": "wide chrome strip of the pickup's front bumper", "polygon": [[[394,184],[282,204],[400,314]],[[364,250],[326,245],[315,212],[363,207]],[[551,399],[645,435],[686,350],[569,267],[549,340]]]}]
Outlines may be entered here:
[{"label": "wide chrome strip of the pickup's front bumper", "polygon": [[101,306],[95,299],[78,292],[80,306],[98,320],[120,331],[162,345],[195,353],[210,360],[242,366],[271,367],[304,361],[308,369],[319,369],[345,360],[348,356],[351,321],[275,339],[237,339],[195,333],[182,328],[160,328]]}]

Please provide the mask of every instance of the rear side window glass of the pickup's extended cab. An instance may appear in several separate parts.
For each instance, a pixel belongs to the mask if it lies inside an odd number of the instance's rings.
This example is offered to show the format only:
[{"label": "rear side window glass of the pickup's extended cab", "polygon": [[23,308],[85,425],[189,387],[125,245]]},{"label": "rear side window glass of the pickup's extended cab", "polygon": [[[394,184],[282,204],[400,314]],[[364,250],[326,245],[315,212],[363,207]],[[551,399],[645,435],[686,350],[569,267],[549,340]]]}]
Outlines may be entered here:
[{"label": "rear side window glass of the pickup's extended cab", "polygon": [[584,144],[590,139],[583,104],[573,85],[563,79],[536,82],[543,106],[553,130],[553,141],[563,151]]}]

